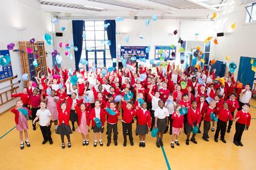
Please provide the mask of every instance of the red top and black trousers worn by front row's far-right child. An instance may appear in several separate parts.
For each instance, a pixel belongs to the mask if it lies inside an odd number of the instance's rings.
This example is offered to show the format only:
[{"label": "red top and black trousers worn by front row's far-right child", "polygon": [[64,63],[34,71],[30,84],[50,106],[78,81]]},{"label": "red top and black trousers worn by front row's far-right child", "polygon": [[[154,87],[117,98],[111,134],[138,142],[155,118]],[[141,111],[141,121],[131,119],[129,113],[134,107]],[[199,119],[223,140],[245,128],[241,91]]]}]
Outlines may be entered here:
[{"label": "red top and black trousers worn by front row's far-right child", "polygon": [[245,128],[249,128],[251,124],[251,114],[249,112],[238,111],[235,118],[239,117],[236,121],[236,133],[234,141],[241,142],[241,138]]}]

